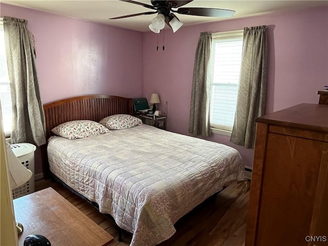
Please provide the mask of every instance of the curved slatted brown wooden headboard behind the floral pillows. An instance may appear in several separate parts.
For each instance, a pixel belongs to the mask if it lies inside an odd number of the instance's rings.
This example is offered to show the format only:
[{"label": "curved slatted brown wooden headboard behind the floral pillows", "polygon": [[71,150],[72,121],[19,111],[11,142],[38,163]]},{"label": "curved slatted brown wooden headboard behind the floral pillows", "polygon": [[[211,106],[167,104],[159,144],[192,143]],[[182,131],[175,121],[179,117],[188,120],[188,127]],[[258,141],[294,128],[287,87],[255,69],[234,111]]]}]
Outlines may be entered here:
[{"label": "curved slatted brown wooden headboard behind the floral pillows", "polygon": [[[71,97],[43,106],[46,120],[47,141],[52,134],[51,129],[61,123],[90,119],[99,122],[106,116],[113,114],[131,114],[133,105],[131,98],[111,95],[85,95]],[[46,146],[43,148],[44,177],[49,177],[49,165]]]}]

